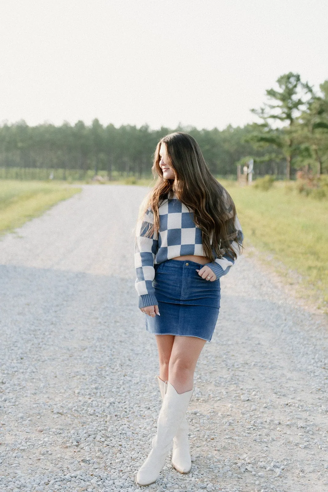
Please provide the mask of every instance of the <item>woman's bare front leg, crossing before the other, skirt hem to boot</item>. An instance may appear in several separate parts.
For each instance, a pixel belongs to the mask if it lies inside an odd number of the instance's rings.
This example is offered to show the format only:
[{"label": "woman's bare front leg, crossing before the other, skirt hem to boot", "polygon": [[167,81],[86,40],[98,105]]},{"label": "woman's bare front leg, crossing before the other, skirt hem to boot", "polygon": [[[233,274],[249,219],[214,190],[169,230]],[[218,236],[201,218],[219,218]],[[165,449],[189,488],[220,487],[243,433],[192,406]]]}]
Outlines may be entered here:
[{"label": "woman's bare front leg, crossing before the other, skirt hem to boot", "polygon": [[206,340],[202,338],[174,336],[168,364],[168,381],[177,393],[192,389],[193,373],[205,343]]}]

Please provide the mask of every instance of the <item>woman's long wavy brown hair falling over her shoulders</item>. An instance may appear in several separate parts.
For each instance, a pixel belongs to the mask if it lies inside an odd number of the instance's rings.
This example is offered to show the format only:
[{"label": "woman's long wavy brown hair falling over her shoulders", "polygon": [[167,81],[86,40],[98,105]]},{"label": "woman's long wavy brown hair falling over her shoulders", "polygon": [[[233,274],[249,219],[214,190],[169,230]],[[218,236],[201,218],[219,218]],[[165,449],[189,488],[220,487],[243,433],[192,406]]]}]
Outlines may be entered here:
[{"label": "woman's long wavy brown hair falling over her shoulders", "polygon": [[[161,143],[166,145],[169,162],[165,163],[173,168],[175,180],[163,178],[159,165]],[[235,205],[227,190],[211,174],[195,139],[180,131],[161,138],[156,146],[152,173],[154,179],[157,177],[157,182],[140,215],[150,208],[154,214],[154,223],[145,236],[158,234],[159,205],[169,192],[173,192],[193,213],[193,220],[202,231],[205,255],[214,261],[213,251],[219,257],[226,252],[236,259],[237,254],[231,247],[231,242],[237,238],[234,227]]]}]

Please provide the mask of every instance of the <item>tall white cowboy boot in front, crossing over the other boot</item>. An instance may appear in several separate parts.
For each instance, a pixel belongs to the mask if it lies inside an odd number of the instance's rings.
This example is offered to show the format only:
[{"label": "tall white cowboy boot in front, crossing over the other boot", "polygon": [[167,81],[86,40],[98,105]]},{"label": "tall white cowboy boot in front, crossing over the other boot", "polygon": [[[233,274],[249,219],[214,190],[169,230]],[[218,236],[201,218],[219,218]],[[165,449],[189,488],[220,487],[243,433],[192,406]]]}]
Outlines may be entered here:
[{"label": "tall white cowboy boot in front, crossing over the other boot", "polygon": [[157,433],[152,439],[152,450],[136,475],[138,485],[156,482],[171,448],[171,441],[187,411],[193,390],[177,393],[170,382],[165,381],[164,399],[157,420]]}]

